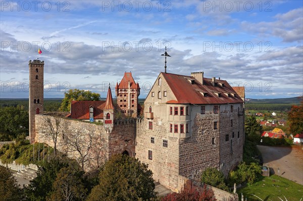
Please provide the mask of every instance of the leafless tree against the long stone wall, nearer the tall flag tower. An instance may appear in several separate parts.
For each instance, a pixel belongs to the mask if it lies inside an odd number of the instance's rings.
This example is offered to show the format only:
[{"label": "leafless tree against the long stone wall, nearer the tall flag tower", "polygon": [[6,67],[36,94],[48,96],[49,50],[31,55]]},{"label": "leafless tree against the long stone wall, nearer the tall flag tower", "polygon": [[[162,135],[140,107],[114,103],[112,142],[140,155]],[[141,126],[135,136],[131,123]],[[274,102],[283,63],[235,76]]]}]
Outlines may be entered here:
[{"label": "leafless tree against the long stone wall, nearer the tall flag tower", "polygon": [[43,123],[42,126],[40,127],[40,132],[41,132],[41,138],[47,139],[51,137],[53,143],[54,143],[54,154],[56,155],[57,153],[57,142],[58,142],[58,137],[60,135],[64,135],[64,130],[67,127],[67,121],[64,121],[64,119],[53,116],[44,116],[43,117]]}]

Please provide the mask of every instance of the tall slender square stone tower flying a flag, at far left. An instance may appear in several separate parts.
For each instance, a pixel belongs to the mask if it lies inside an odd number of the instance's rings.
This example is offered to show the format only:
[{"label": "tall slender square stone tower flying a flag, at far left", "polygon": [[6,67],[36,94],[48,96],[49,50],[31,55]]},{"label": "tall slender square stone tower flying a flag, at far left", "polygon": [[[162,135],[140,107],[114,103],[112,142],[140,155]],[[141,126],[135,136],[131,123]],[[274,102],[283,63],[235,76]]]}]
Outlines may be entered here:
[{"label": "tall slender square stone tower flying a flag, at far left", "polygon": [[43,69],[44,61],[29,60],[29,138],[35,142],[35,114],[43,114]]}]

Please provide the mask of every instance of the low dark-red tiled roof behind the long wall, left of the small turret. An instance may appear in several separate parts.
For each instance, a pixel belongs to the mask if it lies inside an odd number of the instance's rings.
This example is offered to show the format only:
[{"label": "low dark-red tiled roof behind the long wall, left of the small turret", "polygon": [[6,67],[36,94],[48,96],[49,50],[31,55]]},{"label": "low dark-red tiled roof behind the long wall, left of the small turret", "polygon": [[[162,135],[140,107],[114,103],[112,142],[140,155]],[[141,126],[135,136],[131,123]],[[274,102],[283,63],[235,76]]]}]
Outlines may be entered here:
[{"label": "low dark-red tiled roof behind the long wall, left of the small turret", "polygon": [[106,101],[72,101],[71,118],[89,119],[89,107],[93,107],[93,118],[103,119],[103,108]]}]

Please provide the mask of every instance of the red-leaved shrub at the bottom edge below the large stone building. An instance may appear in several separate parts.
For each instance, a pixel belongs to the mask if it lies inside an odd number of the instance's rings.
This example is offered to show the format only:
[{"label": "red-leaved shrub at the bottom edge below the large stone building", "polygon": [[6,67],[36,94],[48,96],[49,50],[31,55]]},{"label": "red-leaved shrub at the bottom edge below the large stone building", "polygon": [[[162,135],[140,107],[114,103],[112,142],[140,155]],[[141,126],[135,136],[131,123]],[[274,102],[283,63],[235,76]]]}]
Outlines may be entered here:
[{"label": "red-leaved shrub at the bottom edge below the large stone building", "polygon": [[214,192],[211,189],[207,189],[204,185],[203,190],[192,188],[182,188],[180,192],[169,193],[162,198],[162,201],[215,201]]}]

